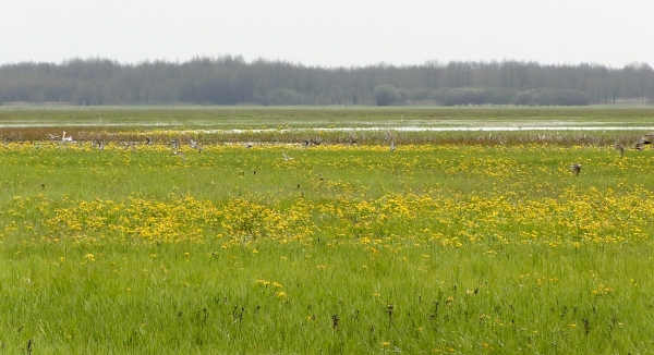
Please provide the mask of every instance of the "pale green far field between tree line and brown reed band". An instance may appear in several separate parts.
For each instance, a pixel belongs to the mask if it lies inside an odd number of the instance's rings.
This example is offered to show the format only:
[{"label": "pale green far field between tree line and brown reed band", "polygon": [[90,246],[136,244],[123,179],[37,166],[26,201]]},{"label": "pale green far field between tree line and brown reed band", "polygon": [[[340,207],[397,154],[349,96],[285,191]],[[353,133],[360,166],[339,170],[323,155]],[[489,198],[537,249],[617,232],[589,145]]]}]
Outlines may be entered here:
[{"label": "pale green far field between tree line and brown reed band", "polygon": [[247,128],[651,126],[653,107],[0,107],[11,126]]}]

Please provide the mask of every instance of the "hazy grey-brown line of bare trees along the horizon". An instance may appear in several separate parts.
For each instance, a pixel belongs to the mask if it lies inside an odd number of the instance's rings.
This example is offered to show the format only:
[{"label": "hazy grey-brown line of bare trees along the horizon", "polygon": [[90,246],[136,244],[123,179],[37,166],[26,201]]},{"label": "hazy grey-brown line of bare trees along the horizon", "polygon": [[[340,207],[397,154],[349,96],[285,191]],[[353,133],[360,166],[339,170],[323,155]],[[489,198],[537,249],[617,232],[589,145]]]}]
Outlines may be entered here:
[{"label": "hazy grey-brown line of bare trees along the horizon", "polygon": [[428,61],[304,66],[242,57],[121,64],[101,58],[0,65],[0,103],[89,105],[596,105],[654,103],[649,64]]}]

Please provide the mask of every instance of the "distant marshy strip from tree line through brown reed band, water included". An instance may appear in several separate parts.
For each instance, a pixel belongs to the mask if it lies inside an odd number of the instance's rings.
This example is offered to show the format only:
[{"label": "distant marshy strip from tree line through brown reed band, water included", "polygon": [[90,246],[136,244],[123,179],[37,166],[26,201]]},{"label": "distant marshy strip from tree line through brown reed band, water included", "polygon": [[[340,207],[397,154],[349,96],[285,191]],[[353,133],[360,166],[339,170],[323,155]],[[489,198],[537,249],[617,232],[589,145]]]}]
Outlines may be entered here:
[{"label": "distant marshy strip from tree line through brown reed band, water included", "polygon": [[651,107],[0,107],[4,142],[66,131],[75,140],[111,142],[605,145],[651,130]]}]

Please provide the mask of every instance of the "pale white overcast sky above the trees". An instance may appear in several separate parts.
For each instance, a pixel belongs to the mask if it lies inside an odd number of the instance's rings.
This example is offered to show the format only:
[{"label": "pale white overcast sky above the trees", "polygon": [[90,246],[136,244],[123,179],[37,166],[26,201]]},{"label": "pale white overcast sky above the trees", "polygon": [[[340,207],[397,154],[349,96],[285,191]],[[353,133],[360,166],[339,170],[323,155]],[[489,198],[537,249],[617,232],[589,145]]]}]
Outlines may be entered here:
[{"label": "pale white overcast sky above the trees", "polygon": [[312,66],[654,66],[647,0],[0,0],[0,64],[232,54]]}]

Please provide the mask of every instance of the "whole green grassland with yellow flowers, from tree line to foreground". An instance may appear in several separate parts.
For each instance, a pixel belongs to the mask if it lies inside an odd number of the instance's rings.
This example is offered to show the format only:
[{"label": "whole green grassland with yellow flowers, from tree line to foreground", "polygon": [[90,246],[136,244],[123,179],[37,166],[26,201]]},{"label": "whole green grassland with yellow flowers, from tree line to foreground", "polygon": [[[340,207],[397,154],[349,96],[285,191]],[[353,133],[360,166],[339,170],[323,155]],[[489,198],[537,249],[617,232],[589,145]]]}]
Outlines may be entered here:
[{"label": "whole green grassland with yellow flowers, from tree line to foreground", "polygon": [[0,348],[646,354],[653,113],[2,108]]}]

